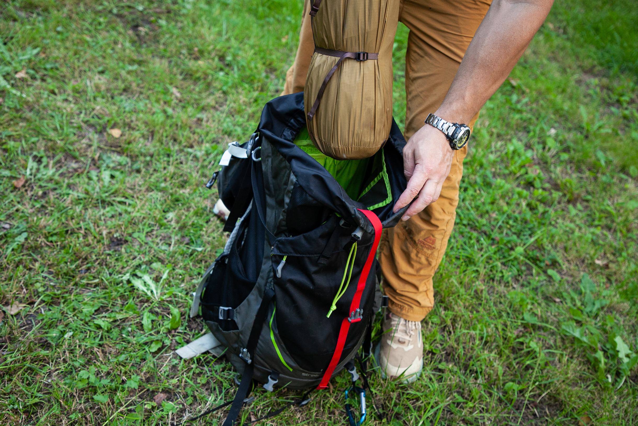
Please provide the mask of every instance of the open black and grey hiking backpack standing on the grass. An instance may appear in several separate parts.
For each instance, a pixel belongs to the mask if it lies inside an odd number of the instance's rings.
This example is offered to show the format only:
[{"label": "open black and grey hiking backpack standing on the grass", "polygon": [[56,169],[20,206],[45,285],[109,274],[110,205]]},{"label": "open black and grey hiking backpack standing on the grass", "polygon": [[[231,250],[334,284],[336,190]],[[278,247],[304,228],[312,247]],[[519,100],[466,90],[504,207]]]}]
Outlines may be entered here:
[{"label": "open black and grey hiking backpack standing on the grass", "polygon": [[[201,308],[241,373],[224,426],[239,415],[253,380],[271,392],[323,389],[346,368],[354,381],[353,360],[362,345],[365,370],[378,310],[376,249],[382,228],[394,226],[404,212],[392,212],[406,186],[405,140],[396,123],[375,156],[329,163],[302,140],[303,96],[268,102],[256,132],[248,142],[232,144],[217,175],[230,209],[224,228],[230,236],[195,292],[191,317]],[[354,192],[348,186],[348,195],[338,182],[343,176],[332,176],[330,167],[351,170],[346,180],[360,179],[360,185]],[[365,374],[362,380],[366,388]],[[308,393],[288,406],[306,402]]]}]

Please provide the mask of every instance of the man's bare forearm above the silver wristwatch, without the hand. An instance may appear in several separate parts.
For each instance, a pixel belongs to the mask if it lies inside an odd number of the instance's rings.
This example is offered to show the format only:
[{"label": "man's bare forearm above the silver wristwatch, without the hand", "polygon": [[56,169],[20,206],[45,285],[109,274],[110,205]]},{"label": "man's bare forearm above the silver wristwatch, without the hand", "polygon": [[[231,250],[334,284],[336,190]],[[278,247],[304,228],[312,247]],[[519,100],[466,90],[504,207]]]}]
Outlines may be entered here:
[{"label": "man's bare forearm above the silver wristwatch, without the hand", "polygon": [[469,123],[503,84],[552,4],[553,0],[494,0],[435,114],[452,123]]}]

